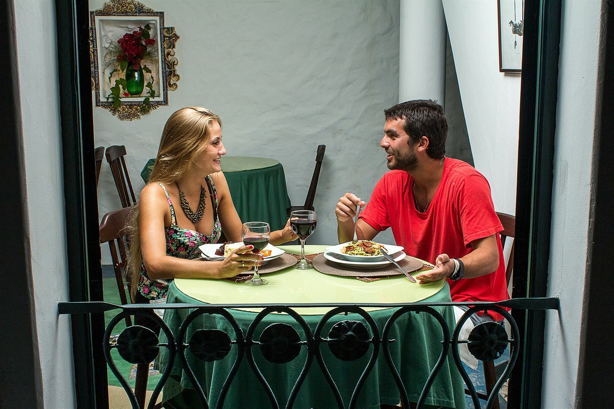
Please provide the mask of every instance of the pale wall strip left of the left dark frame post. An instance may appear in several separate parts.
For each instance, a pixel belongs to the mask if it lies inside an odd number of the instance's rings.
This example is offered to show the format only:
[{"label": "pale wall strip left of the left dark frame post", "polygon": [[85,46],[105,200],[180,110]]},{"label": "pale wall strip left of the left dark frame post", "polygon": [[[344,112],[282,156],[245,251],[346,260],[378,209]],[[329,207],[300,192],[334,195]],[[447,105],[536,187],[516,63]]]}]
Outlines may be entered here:
[{"label": "pale wall strip left of the left dark frame post", "polygon": [[58,302],[69,297],[54,4],[53,0],[15,1],[15,20],[44,405],[71,408],[75,406],[71,327],[68,316],[58,317]]}]

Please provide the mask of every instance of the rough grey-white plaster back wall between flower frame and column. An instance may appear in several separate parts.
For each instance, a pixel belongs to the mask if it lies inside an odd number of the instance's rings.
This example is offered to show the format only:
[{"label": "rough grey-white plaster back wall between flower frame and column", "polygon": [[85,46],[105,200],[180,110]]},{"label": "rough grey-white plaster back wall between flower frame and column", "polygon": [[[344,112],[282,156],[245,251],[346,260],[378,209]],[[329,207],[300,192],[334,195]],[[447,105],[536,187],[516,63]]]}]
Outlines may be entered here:
[{"label": "rough grey-white plaster back wall between flower frame and column", "polygon": [[[103,1],[90,1],[90,9]],[[172,4],[172,6],[171,6]],[[146,1],[174,26],[181,75],[169,106],[122,122],[94,109],[97,146],[123,144],[137,191],[166,119],[183,106],[213,109],[228,155],[279,160],[293,204],[305,201],[316,147],[327,146],[309,242],[336,243],[335,204],[368,199],[387,171],[383,110],[398,101],[398,0]],[[120,208],[105,162],[99,214]],[[383,233],[384,240],[393,240]],[[110,263],[103,249],[103,263]]]}]

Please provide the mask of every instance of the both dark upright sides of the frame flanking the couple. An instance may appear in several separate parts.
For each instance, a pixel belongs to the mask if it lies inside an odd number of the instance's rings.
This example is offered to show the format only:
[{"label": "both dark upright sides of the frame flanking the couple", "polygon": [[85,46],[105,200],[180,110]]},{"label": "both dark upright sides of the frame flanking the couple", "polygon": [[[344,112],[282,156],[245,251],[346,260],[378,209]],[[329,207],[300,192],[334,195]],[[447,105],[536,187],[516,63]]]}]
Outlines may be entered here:
[{"label": "both dark upright sides of the frame flanking the couple", "polygon": [[[102,299],[98,201],[91,104],[88,2],[56,0],[64,150],[64,197],[71,301]],[[550,204],[561,0],[525,3],[519,120],[516,244],[513,296],[544,297],[550,247]],[[72,68],[72,69],[69,69]],[[530,198],[527,200],[527,198]],[[542,387],[543,312],[516,311],[522,365],[510,380],[510,407],[539,407]],[[72,318],[79,407],[108,407],[101,348],[104,317]],[[525,368],[526,370],[523,370]]]}]

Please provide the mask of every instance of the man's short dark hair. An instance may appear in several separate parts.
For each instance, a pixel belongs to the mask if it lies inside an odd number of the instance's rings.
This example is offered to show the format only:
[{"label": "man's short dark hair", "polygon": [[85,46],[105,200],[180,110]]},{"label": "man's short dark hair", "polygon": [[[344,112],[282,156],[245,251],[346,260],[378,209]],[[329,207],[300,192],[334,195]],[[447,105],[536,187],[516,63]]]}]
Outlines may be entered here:
[{"label": "man's short dark hair", "polygon": [[429,138],[427,155],[433,159],[443,158],[446,154],[446,137],[448,136],[448,122],[443,115],[443,107],[431,99],[414,99],[384,109],[386,120],[405,120],[403,129],[416,144],[426,136]]}]

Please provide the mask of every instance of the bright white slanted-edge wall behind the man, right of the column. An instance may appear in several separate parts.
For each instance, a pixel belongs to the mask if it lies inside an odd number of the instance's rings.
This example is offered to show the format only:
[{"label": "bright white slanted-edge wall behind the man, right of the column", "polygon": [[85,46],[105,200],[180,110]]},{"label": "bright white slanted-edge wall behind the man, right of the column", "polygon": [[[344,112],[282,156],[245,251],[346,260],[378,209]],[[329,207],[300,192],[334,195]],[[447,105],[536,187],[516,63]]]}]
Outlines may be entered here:
[{"label": "bright white slanted-edge wall behind the man, right of the column", "polygon": [[499,72],[497,2],[443,0],[473,162],[515,214],[520,76]]}]

